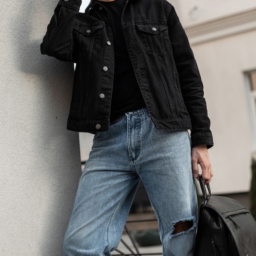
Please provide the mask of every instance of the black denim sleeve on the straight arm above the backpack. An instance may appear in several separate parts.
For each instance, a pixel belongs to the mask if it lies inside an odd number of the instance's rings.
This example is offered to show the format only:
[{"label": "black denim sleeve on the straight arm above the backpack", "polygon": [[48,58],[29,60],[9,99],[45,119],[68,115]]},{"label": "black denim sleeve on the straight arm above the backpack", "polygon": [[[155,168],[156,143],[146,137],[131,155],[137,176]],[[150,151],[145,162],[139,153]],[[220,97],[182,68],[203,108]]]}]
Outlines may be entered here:
[{"label": "black denim sleeve on the straight arm above the backpack", "polygon": [[211,148],[213,137],[204,99],[202,80],[189,40],[173,6],[168,17],[168,31],[182,96],[191,118],[192,147],[206,144],[208,148]]}]

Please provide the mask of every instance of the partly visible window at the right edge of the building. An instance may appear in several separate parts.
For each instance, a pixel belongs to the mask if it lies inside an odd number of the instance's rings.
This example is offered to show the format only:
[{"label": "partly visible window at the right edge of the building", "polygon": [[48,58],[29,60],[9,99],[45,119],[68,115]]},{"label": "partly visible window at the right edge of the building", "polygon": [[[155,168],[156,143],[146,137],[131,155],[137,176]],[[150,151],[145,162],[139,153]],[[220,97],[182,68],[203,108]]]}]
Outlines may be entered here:
[{"label": "partly visible window at the right edge of the building", "polygon": [[256,153],[256,70],[245,73],[248,95],[249,119],[252,134],[252,150]]}]

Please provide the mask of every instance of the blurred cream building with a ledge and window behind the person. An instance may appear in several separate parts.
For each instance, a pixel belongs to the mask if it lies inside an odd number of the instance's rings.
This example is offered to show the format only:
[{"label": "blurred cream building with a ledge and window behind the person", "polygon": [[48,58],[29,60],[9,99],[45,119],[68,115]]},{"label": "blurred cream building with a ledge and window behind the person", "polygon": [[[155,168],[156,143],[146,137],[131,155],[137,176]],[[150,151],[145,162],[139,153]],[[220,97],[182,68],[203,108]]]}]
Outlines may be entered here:
[{"label": "blurred cream building with a ledge and window behind the person", "polygon": [[[247,193],[256,152],[255,0],[169,0],[186,30],[204,83],[215,146],[215,194]],[[87,2],[84,1],[81,11]],[[80,134],[86,160],[92,135]]]}]

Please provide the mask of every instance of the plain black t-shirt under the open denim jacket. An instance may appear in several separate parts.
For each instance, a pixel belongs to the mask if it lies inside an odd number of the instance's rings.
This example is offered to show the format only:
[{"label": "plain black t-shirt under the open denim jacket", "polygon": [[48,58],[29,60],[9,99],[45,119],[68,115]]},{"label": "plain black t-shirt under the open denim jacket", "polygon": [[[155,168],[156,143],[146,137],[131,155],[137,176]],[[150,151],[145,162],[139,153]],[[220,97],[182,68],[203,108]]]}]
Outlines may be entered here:
[{"label": "plain black t-shirt under the open denim jacket", "polygon": [[115,120],[126,112],[146,107],[146,104],[135,77],[121,25],[121,16],[126,0],[100,2],[106,7],[110,15],[112,43],[115,50],[115,70],[110,110],[110,120]]}]

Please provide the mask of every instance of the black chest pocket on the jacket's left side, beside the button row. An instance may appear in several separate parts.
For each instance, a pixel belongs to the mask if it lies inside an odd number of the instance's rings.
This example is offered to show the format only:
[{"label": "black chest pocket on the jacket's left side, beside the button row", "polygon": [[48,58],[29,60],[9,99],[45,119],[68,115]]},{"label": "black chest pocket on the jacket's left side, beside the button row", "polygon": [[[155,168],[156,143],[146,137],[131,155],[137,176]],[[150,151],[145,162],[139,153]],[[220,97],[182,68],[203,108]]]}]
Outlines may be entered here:
[{"label": "black chest pocket on the jacket's left side, beside the button row", "polygon": [[76,51],[81,53],[91,52],[99,48],[103,23],[94,26],[74,24],[74,44]]}]

